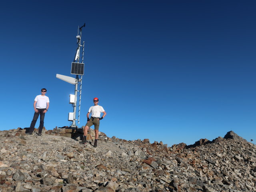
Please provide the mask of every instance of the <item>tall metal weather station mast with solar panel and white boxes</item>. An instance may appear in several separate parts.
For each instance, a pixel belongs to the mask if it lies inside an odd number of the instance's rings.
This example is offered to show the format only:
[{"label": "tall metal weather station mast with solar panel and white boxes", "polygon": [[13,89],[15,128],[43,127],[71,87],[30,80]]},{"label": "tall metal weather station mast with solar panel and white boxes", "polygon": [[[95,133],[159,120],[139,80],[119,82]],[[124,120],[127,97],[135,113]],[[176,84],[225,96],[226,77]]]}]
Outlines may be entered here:
[{"label": "tall metal weather station mast with solar panel and white boxes", "polygon": [[[84,42],[81,44],[81,38],[82,38],[82,28],[85,27],[85,23],[83,26],[78,26],[78,34],[76,36],[77,40],[77,48],[76,48],[76,54],[74,56],[74,60],[71,63],[71,74],[76,75],[76,78],[56,74],[56,77],[66,81],[70,84],[73,84],[75,86],[74,95],[70,94],[69,96],[69,103],[72,104],[73,112],[68,113],[68,121],[72,122],[70,125],[70,128],[77,129],[78,126],[76,125],[76,121],[80,121],[80,105],[81,105],[81,94],[82,94],[82,76],[84,75]],[[82,48],[82,62],[80,62],[80,49]],[[80,85],[80,86],[79,86]],[[79,87],[79,90],[78,90]],[[79,92],[79,100],[78,100],[78,119],[76,119],[76,110],[77,110],[77,97]]]}]

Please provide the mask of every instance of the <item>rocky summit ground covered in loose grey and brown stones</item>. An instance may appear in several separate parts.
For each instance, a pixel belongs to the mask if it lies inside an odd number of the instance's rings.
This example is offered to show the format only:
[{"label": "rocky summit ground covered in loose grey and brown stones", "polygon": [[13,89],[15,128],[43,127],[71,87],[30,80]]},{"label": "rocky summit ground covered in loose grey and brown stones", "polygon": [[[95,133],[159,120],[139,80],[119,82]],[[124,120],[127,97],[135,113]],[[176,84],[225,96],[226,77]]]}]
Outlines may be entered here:
[{"label": "rocky summit ground covered in loose grey and brown stones", "polygon": [[234,132],[168,147],[94,131],[0,131],[0,192],[255,192],[256,147]]}]

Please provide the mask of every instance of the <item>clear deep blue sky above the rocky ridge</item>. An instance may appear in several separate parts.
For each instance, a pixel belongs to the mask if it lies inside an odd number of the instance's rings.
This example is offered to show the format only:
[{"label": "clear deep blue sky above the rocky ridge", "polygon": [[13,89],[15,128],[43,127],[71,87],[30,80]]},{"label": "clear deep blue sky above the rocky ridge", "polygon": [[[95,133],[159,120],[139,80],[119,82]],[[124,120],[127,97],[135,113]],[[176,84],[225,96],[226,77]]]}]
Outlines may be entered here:
[{"label": "clear deep blue sky above the rocky ridge", "polygon": [[[79,126],[98,97],[100,131],[168,146],[233,130],[256,140],[256,1],[5,1],[0,130],[29,127],[47,88],[47,130],[69,126],[70,74],[84,22]],[[39,126],[39,120],[36,127]]]}]

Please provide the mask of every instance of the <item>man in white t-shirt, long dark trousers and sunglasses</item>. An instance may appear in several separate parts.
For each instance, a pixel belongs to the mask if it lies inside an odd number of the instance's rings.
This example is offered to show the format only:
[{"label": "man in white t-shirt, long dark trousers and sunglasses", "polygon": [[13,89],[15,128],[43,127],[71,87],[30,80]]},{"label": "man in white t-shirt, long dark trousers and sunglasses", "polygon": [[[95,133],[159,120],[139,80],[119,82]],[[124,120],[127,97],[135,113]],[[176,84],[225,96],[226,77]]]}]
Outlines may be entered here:
[{"label": "man in white t-shirt, long dark trousers and sunglasses", "polygon": [[44,127],[44,115],[48,111],[49,102],[50,102],[49,98],[47,96],[45,96],[46,91],[47,91],[46,88],[42,88],[41,95],[36,96],[36,98],[34,100],[35,113],[34,113],[33,120],[30,124],[30,129],[28,132],[29,135],[32,135],[32,132],[34,131],[36,121],[39,117],[39,114],[40,114],[40,125],[39,125],[38,135],[39,136],[42,135],[42,129]]}]

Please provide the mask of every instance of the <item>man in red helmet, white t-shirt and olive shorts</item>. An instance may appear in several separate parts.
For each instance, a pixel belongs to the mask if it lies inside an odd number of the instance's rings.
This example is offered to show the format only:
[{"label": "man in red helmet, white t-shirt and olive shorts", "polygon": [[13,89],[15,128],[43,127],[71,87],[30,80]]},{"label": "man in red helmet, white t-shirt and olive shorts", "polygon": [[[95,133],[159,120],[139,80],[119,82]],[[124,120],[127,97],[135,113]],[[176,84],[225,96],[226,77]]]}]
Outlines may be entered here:
[{"label": "man in red helmet, white t-shirt and olive shorts", "polygon": [[[102,106],[98,105],[99,99],[95,97],[93,99],[94,106],[91,106],[88,113],[87,113],[87,123],[84,128],[84,137],[83,140],[80,143],[86,143],[86,136],[87,131],[90,126],[94,125],[94,131],[95,131],[95,141],[94,141],[94,147],[97,147],[97,141],[99,137],[99,127],[100,127],[100,120],[102,120],[106,116],[106,112],[103,109]],[[89,118],[89,114],[91,113],[91,118]],[[100,113],[103,113],[103,116],[100,117]]]}]

